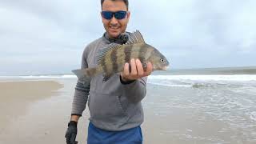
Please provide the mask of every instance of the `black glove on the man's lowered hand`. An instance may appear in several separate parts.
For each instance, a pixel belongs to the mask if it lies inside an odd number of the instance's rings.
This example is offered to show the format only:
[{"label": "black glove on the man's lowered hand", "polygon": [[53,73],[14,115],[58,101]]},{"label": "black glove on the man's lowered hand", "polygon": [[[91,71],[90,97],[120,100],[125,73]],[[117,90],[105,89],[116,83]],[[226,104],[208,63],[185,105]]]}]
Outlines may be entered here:
[{"label": "black glove on the man's lowered hand", "polygon": [[66,130],[65,138],[66,144],[77,144],[78,142],[75,141],[75,138],[78,134],[78,122],[70,121],[68,128]]}]

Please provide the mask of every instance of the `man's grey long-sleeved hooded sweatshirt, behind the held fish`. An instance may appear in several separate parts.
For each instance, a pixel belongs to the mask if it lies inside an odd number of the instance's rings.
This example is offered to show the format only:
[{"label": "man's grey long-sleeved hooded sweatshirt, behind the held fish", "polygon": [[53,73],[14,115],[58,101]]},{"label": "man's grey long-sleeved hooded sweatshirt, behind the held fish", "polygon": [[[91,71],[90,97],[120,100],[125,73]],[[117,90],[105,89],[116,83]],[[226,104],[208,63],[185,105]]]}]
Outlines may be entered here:
[{"label": "man's grey long-sleeved hooded sweatshirt, behind the held fish", "polygon": [[[86,46],[81,68],[97,66],[96,54],[111,42],[119,43],[118,39],[104,34]],[[122,82],[120,74],[114,74],[106,82],[102,78],[102,74],[99,74],[89,83],[78,80],[72,114],[81,116],[88,101],[89,120],[100,129],[118,131],[141,125],[144,119],[141,101],[146,96],[146,77],[133,82]]]}]

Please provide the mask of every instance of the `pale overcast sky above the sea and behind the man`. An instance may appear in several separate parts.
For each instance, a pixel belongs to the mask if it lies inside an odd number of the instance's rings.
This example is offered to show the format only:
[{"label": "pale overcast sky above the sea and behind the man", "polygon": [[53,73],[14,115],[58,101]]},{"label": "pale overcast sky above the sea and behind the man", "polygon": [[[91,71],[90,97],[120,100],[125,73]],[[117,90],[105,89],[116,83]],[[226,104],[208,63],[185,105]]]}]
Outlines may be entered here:
[{"label": "pale overcast sky above the sea and behind the man", "polygon": [[[128,31],[174,69],[256,66],[256,1],[130,0]],[[99,0],[0,0],[0,75],[70,73],[104,33]]]}]

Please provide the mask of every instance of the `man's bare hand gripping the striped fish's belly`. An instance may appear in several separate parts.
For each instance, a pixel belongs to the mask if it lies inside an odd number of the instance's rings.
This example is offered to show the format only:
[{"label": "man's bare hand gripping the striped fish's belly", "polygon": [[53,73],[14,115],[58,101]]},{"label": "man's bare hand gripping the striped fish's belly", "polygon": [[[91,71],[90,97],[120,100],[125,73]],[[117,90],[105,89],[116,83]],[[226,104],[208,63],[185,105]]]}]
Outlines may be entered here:
[{"label": "man's bare hand gripping the striped fish's belly", "polygon": [[127,82],[146,77],[150,75],[153,70],[151,62],[147,63],[146,71],[144,71],[142,62],[139,59],[134,60],[134,58],[130,60],[130,68],[131,70],[129,70],[129,63],[126,63],[121,73],[122,81]]}]

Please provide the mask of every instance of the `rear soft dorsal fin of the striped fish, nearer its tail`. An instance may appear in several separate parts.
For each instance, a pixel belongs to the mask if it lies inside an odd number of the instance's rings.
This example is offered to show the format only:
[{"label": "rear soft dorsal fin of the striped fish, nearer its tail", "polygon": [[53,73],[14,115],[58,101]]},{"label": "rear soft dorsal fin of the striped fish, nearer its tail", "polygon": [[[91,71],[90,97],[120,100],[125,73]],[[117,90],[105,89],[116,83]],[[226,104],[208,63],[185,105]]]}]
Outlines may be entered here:
[{"label": "rear soft dorsal fin of the striped fish, nearer its tail", "polygon": [[97,64],[102,61],[102,58],[110,51],[115,50],[121,47],[122,45],[119,45],[118,43],[110,43],[110,45],[107,45],[104,49],[101,51],[98,51],[98,54],[96,56]]}]

